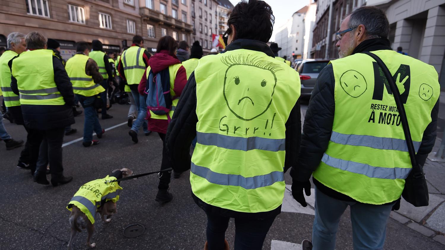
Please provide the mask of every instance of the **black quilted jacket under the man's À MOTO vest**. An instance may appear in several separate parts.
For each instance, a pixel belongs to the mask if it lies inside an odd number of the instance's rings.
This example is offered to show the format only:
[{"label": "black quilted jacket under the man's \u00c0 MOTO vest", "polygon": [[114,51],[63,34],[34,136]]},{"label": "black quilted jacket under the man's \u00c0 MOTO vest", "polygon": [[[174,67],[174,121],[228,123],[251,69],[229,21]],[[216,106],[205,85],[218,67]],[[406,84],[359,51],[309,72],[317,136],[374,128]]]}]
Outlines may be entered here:
[{"label": "black quilted jacket under the man's \u00c0 MOTO vest", "polygon": [[[391,50],[389,40],[381,38],[369,39],[360,43],[352,54],[382,49]],[[320,164],[324,152],[328,149],[335,112],[334,86],[334,72],[332,64],[329,64],[320,72],[314,90],[312,91],[311,101],[309,101],[309,106],[307,107],[298,162],[292,166],[290,172],[294,181],[304,182],[309,180],[312,172],[315,171]],[[431,112],[432,121],[424,131],[422,143],[416,155],[417,162],[420,165],[425,164],[426,157],[428,157],[436,141],[438,111],[439,100],[437,100]],[[343,201],[354,201],[349,196],[321,184],[315,178],[312,178],[312,180],[324,194]]]}]

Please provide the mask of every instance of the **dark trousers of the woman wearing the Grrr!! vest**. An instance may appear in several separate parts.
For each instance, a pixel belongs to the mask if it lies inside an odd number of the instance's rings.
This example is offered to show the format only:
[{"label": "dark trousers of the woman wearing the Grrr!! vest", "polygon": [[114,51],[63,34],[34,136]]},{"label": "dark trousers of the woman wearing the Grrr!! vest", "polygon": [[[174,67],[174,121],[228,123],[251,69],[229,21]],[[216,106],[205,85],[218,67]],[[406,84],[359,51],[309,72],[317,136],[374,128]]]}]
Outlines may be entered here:
[{"label": "dark trousers of the woman wearing the Grrr!! vest", "polygon": [[[207,244],[209,250],[223,250],[230,217],[207,214]],[[261,250],[275,216],[263,219],[235,218],[235,250]]]}]

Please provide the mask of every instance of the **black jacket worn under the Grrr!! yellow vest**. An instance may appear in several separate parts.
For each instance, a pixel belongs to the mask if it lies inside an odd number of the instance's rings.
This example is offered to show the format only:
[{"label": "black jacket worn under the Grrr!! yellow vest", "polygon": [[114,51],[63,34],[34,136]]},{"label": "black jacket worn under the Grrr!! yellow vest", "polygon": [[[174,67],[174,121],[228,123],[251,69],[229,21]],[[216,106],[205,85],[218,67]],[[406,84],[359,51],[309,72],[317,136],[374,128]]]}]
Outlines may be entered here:
[{"label": "black jacket worn under the Grrr!! yellow vest", "polygon": [[[249,49],[261,51],[268,56],[274,57],[273,52],[267,44],[247,39],[238,39],[227,46],[226,51],[235,49]],[[198,117],[196,115],[196,81],[194,72],[190,75],[186,87],[182,91],[181,98],[173,114],[170,125],[166,134],[166,147],[172,163],[176,171],[186,171],[190,169],[190,145],[194,137],[196,137],[196,123]],[[284,161],[285,171],[295,165],[301,137],[301,113],[299,100],[291,110],[289,118],[286,121],[286,156]],[[192,193],[192,197],[196,204],[204,211],[211,214],[218,214],[225,217],[243,217],[243,218],[265,218],[276,216],[281,212],[281,206],[275,210],[261,213],[243,213],[233,210],[223,209],[211,206]]]}]

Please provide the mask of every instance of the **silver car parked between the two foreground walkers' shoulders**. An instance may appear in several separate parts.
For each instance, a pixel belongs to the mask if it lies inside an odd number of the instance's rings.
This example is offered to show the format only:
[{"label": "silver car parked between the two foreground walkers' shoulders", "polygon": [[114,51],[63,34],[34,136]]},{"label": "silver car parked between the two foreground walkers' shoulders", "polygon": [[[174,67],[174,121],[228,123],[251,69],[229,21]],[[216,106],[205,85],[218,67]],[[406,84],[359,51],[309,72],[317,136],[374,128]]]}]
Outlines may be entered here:
[{"label": "silver car parked between the two foreground walkers' shoulders", "polygon": [[318,74],[328,63],[329,60],[305,59],[295,66],[301,80],[301,97],[311,97]]}]

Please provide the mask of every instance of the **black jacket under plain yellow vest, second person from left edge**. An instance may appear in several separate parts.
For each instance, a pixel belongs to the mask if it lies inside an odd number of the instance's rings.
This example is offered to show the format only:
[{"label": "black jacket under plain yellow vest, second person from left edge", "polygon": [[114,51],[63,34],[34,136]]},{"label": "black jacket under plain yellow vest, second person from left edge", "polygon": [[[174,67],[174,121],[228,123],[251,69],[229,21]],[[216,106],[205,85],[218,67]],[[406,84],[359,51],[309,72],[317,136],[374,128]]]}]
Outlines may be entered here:
[{"label": "black jacket under plain yellow vest, second person from left edge", "polygon": [[[14,60],[9,62],[12,68]],[[55,129],[74,124],[73,108],[74,93],[73,85],[69,80],[61,58],[53,56],[54,82],[61,93],[65,105],[21,105],[24,125],[29,129]],[[11,76],[12,91],[18,95],[17,80]]]}]

